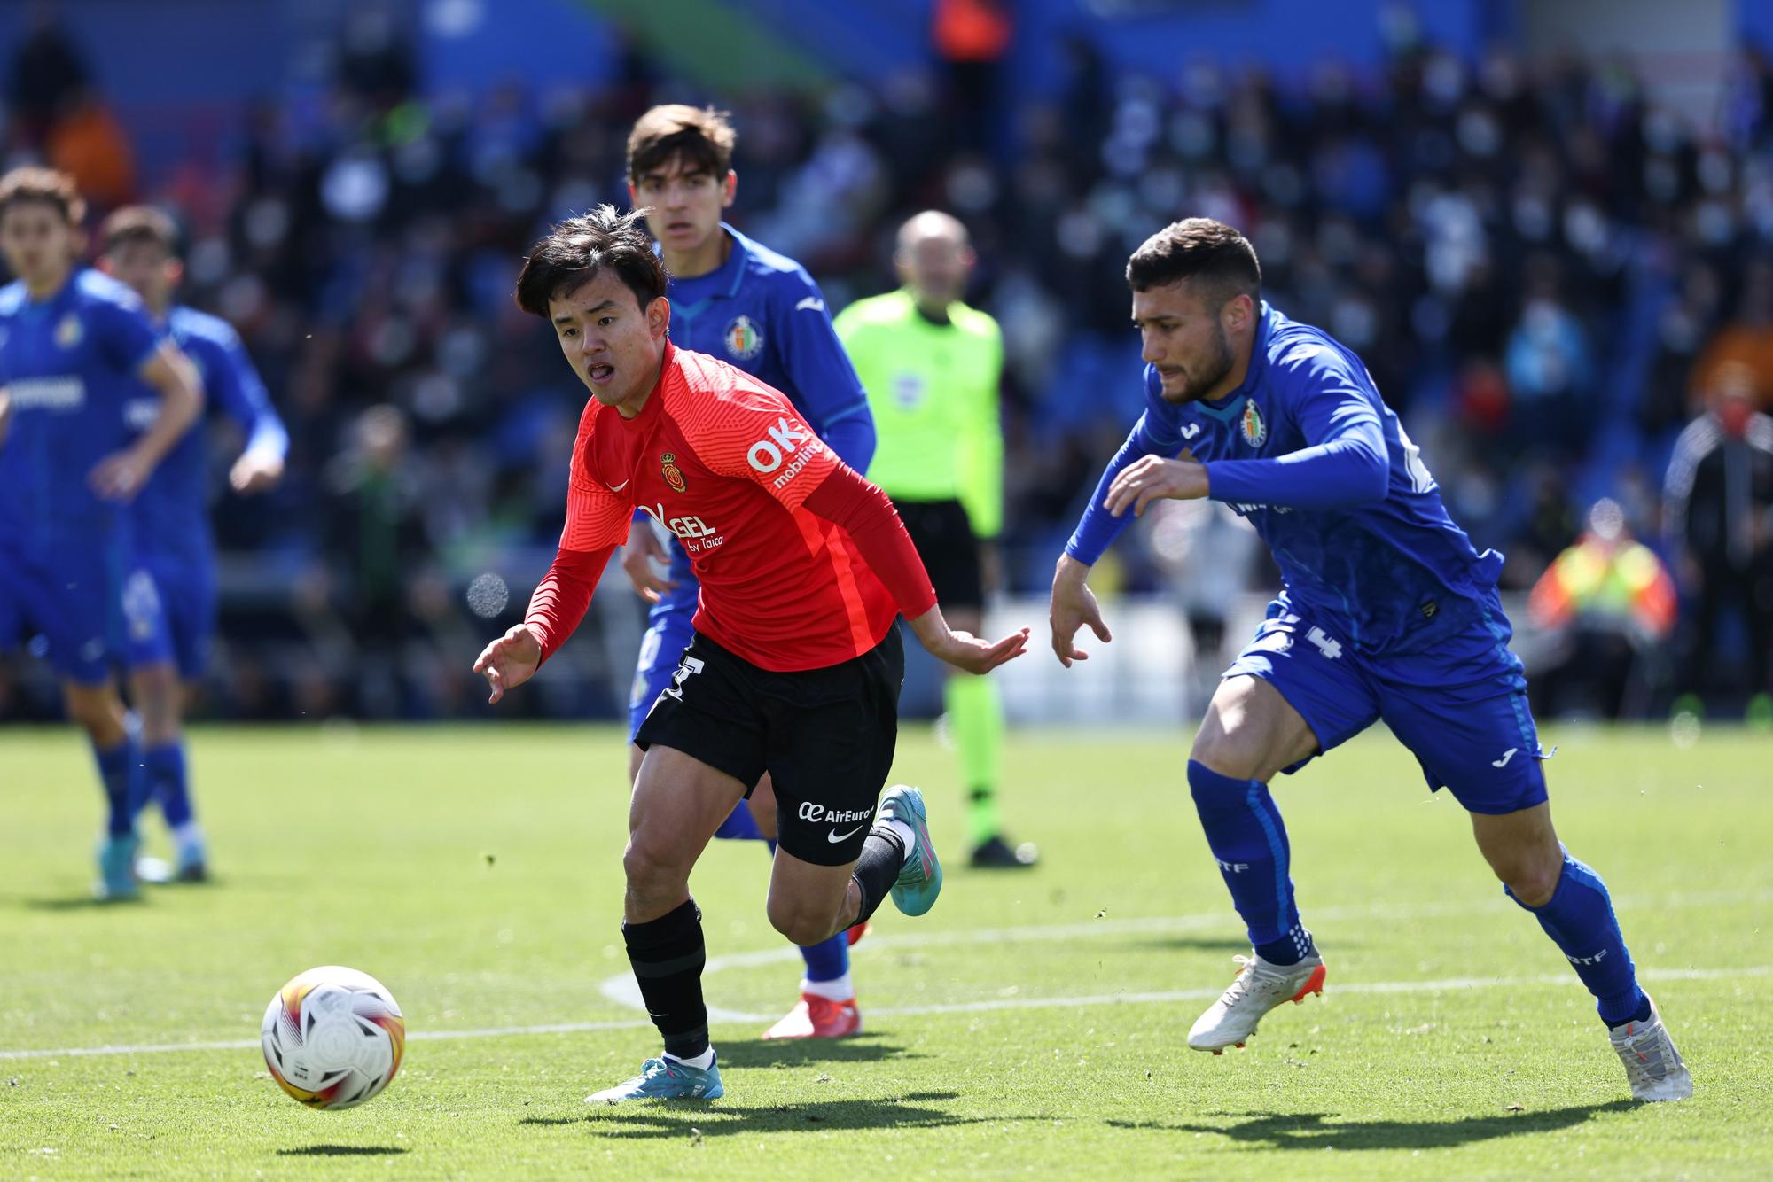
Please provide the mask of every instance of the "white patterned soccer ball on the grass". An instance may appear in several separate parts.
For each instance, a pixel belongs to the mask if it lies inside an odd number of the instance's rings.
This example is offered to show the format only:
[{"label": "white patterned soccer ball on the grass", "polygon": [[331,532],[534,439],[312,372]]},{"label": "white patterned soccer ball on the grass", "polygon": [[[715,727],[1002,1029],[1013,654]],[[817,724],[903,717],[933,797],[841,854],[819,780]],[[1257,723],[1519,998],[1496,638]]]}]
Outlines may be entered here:
[{"label": "white patterned soccer ball on the grass", "polygon": [[324,964],[271,998],[259,1028],[271,1079],[309,1108],[353,1108],[401,1070],[406,1021],[369,973]]}]

